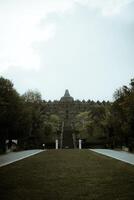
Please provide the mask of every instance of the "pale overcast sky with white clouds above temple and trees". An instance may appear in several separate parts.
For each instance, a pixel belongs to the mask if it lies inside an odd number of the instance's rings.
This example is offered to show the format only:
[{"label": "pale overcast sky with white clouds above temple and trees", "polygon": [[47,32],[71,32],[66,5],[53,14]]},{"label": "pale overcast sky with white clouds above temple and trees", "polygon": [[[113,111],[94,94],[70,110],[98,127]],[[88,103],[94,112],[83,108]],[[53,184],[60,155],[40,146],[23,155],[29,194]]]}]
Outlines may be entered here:
[{"label": "pale overcast sky with white clouds above temple and trees", "polygon": [[112,100],[134,77],[134,0],[0,0],[0,74],[20,94]]}]

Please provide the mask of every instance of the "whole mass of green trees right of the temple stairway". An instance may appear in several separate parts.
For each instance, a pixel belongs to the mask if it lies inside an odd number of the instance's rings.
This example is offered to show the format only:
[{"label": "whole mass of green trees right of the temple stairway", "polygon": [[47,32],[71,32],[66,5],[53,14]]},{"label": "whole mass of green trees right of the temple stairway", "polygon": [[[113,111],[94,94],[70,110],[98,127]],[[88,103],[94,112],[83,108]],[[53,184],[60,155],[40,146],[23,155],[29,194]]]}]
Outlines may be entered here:
[{"label": "whole mass of green trees right of the temple stairway", "polygon": [[134,150],[134,79],[129,87],[114,93],[114,102],[97,102],[88,112],[75,119],[77,136],[92,141],[92,137],[105,139],[108,147],[127,146]]}]

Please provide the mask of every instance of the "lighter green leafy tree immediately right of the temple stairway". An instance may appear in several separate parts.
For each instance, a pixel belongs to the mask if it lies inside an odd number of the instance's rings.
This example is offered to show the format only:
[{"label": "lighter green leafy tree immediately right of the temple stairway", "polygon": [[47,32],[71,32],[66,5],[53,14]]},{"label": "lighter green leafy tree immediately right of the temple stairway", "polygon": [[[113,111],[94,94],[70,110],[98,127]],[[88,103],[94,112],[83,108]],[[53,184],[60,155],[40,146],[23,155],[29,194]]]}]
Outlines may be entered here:
[{"label": "lighter green leafy tree immediately right of the temple stairway", "polygon": [[106,106],[94,105],[88,112],[81,112],[75,119],[75,130],[82,139],[91,141],[105,136]]}]

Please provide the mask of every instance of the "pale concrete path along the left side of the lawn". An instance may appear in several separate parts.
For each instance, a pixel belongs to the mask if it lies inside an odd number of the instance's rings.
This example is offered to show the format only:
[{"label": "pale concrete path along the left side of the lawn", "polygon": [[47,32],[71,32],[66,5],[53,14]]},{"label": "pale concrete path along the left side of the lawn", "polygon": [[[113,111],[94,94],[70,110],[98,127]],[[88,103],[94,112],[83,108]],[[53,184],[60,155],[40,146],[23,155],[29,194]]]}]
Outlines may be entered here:
[{"label": "pale concrete path along the left side of the lawn", "polygon": [[20,152],[10,152],[4,155],[0,155],[0,167],[9,165],[10,163],[22,160],[24,158],[35,155],[42,151],[44,150],[36,149],[36,150],[26,150]]}]

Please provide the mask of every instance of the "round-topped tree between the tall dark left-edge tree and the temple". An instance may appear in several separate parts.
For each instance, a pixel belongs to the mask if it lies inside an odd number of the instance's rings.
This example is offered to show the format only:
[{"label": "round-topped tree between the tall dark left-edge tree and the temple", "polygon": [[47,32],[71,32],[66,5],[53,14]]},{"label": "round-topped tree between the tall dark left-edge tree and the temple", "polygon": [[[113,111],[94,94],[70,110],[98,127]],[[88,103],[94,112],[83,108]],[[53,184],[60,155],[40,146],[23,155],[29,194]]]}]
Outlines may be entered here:
[{"label": "round-topped tree between the tall dark left-edge tree and the temple", "polygon": [[[22,140],[25,148],[38,148],[44,143],[44,114],[42,112],[42,98],[38,91],[28,90],[22,95],[25,137]],[[23,145],[23,144],[22,144]]]}]

